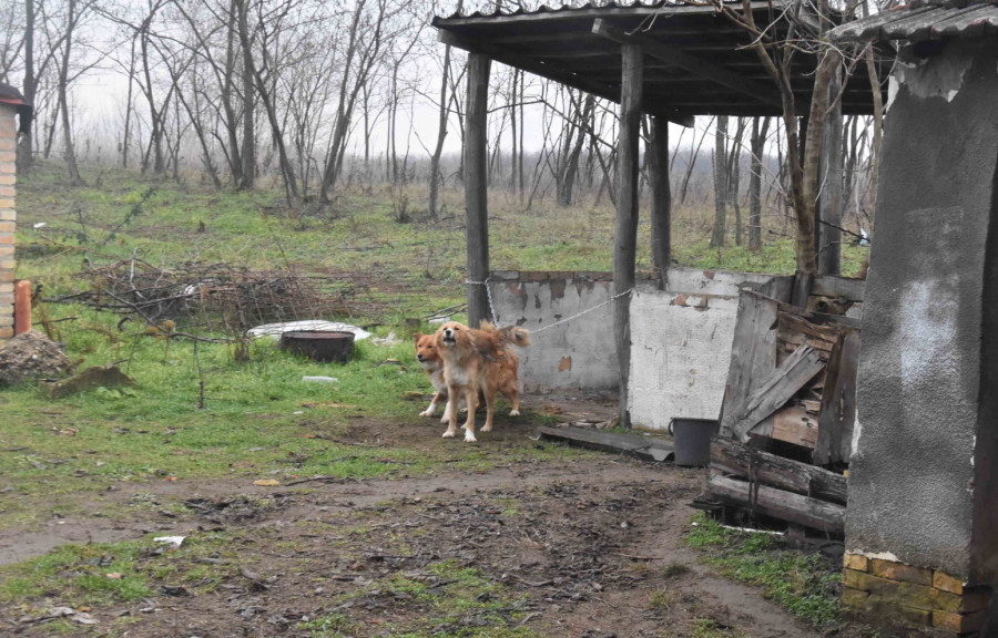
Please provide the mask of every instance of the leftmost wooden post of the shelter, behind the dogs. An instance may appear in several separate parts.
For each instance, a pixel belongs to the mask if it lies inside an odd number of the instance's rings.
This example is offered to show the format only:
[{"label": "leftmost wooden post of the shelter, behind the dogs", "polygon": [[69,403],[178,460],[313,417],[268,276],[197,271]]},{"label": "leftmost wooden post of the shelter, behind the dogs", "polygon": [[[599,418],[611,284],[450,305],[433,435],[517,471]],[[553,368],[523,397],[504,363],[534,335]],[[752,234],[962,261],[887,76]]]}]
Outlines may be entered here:
[{"label": "leftmost wooden post of the shelter, behind the dogs", "polygon": [[[489,277],[488,210],[488,99],[491,60],[481,53],[468,55],[468,100],[465,106],[465,209],[470,281]],[[480,284],[467,285],[468,323],[478,328],[491,317],[488,290]]]}]

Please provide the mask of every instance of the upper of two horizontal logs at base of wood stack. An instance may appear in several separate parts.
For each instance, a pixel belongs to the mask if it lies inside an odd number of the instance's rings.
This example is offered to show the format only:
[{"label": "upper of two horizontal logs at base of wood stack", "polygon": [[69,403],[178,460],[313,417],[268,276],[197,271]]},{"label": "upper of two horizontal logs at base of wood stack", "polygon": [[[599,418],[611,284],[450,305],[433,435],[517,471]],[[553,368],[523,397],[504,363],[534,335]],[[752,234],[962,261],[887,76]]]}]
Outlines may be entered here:
[{"label": "upper of two horizontal logs at base of wood stack", "polygon": [[711,441],[711,471],[754,476],[764,485],[788,490],[822,501],[846,504],[847,478],[815,465],[760,452],[731,439]]}]

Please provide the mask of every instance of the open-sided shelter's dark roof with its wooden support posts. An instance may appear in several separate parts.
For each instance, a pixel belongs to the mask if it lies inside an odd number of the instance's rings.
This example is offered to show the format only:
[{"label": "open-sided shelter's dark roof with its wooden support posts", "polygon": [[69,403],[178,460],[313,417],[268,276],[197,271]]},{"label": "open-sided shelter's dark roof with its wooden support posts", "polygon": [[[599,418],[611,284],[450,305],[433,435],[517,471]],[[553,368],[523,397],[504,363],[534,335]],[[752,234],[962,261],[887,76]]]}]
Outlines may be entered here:
[{"label": "open-sided shelter's dark roof with its wooden support posts", "polygon": [[[742,9],[741,2],[730,7]],[[801,39],[827,23],[805,3],[750,0],[756,24],[776,40]],[[490,281],[487,209],[487,97],[492,60],[587,91],[620,104],[617,140],[617,223],[614,229],[613,333],[619,368],[621,424],[630,425],[631,291],[635,288],[638,234],[639,125],[652,116],[649,182],[652,189],[652,256],[659,288],[670,265],[668,123],[692,126],[696,115],[782,115],[783,103],[765,65],[751,49],[755,35],[710,3],[655,2],[623,6],[541,7],[536,11],[454,14],[432,21],[439,40],[464,49],[468,58],[465,127],[468,315],[472,326],[489,316]],[[887,56],[889,58],[889,55]],[[883,58],[879,63],[885,64]],[[817,65],[801,51],[792,60],[793,97],[806,113]],[[842,112],[873,112],[873,90],[863,64],[842,90]],[[837,144],[828,144],[835,147]],[[833,181],[836,182],[836,181]],[[838,237],[823,227],[819,247],[835,248]],[[726,349],[726,344],[721,344]],[[716,412],[712,418],[716,416]]]}]

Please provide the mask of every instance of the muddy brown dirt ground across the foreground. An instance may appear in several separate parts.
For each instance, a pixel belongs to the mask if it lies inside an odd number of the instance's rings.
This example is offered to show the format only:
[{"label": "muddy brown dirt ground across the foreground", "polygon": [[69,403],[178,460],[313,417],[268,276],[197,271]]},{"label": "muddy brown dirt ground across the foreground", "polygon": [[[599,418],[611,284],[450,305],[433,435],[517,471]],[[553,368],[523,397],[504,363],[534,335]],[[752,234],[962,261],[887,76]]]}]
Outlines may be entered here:
[{"label": "muddy brown dirt ground across the foreground", "polygon": [[[564,410],[571,416],[579,408]],[[605,405],[587,411],[599,416]],[[462,445],[434,428],[373,421],[350,436],[365,445]],[[487,436],[483,446],[533,444],[526,426]],[[189,537],[191,549],[139,559],[157,596],[93,608],[98,624],[72,629],[81,636],[624,638],[701,636],[704,626],[720,631],[711,636],[816,636],[681,543],[701,482],[701,471],[612,455],[278,487],[164,482],[141,486],[134,516],[0,533],[0,563],[68,542]],[[136,494],[104,498],[128,505]],[[473,598],[461,597],[467,568],[483,588]],[[466,613],[448,608],[455,599]],[[51,604],[60,603],[52,593]],[[0,606],[0,636],[52,635],[52,625],[21,614]],[[490,626],[502,631],[471,630]]]}]

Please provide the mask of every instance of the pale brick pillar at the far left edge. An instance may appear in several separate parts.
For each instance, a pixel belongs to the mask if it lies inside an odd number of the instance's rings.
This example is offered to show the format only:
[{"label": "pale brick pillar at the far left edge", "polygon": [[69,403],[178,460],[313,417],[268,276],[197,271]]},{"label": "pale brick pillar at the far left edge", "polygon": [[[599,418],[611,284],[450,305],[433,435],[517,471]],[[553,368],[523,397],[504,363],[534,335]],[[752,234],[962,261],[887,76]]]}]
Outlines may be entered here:
[{"label": "pale brick pillar at the far left edge", "polygon": [[0,102],[0,346],[13,337],[17,107]]}]

